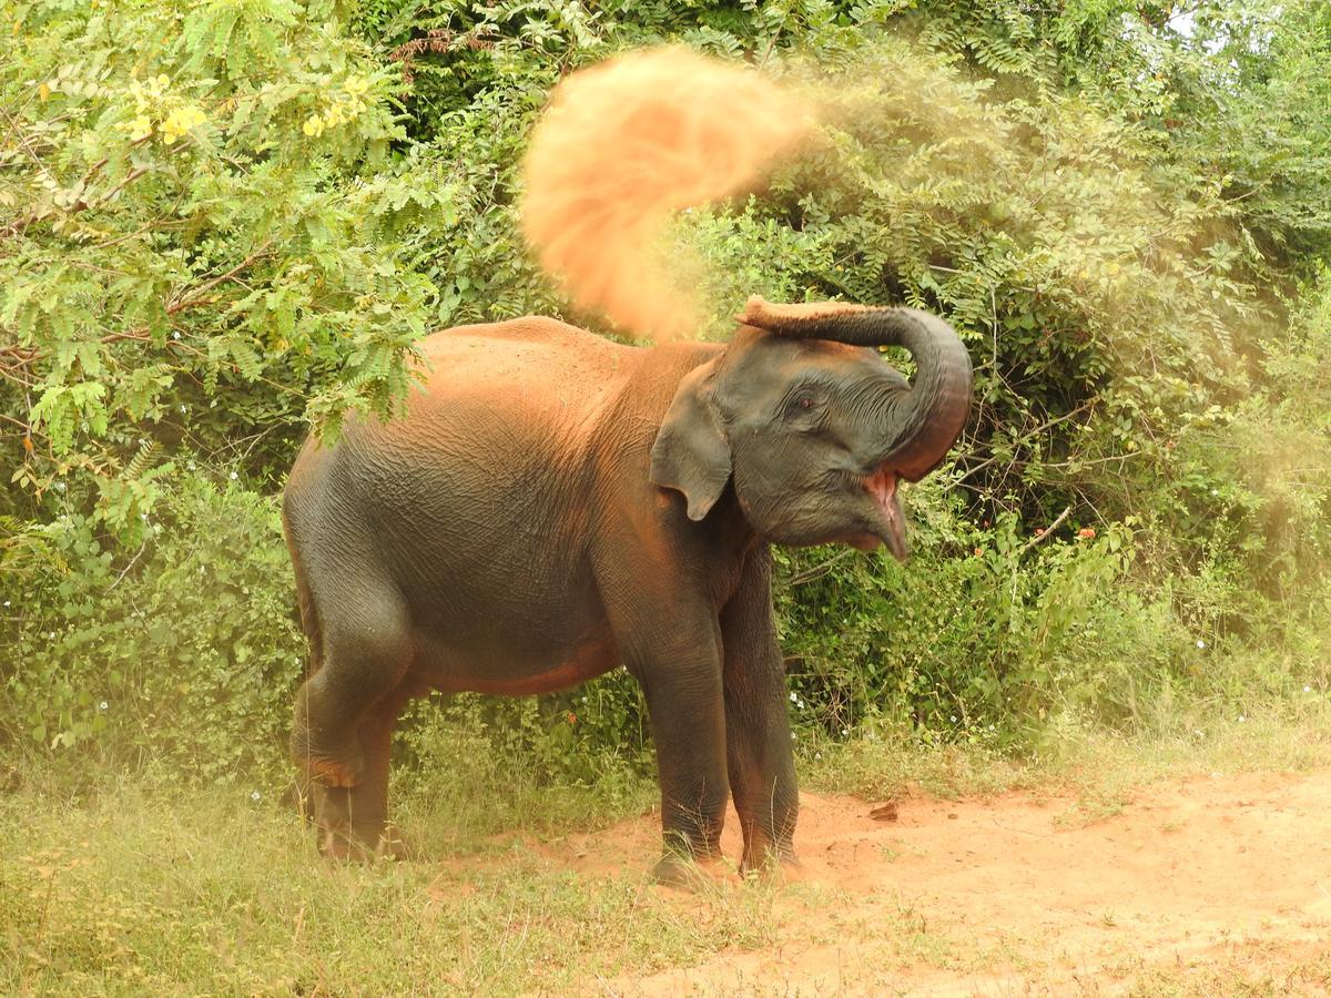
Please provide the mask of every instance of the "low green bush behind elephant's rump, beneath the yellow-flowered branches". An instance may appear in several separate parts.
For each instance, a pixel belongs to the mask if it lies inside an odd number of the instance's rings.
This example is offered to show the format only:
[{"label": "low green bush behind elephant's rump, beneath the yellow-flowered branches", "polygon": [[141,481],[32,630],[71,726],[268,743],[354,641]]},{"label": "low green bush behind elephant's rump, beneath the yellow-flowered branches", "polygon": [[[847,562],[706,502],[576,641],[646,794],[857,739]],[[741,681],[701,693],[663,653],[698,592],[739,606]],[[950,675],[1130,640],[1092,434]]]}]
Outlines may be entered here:
[{"label": "low green bush behind elephant's rump, beneath the yellow-flowered branches", "polygon": [[[305,660],[277,510],[197,472],[158,482],[165,498],[124,567],[80,514],[5,552],[0,725],[108,762],[150,747],[154,764],[200,780],[277,778]],[[21,554],[33,550],[36,564]]]}]

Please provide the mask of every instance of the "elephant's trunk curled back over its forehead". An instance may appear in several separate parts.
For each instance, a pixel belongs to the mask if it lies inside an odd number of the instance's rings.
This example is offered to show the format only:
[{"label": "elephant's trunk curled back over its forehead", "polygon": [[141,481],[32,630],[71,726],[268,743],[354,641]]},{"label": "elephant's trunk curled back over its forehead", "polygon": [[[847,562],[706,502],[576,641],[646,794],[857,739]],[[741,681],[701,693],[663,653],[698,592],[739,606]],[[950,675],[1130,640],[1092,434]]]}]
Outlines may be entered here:
[{"label": "elephant's trunk curled back over its forehead", "polygon": [[884,443],[873,459],[918,482],[961,435],[970,411],[970,357],[956,331],[918,309],[844,302],[772,305],[752,295],[739,322],[777,335],[852,346],[904,346],[916,362],[910,393],[884,411]]}]

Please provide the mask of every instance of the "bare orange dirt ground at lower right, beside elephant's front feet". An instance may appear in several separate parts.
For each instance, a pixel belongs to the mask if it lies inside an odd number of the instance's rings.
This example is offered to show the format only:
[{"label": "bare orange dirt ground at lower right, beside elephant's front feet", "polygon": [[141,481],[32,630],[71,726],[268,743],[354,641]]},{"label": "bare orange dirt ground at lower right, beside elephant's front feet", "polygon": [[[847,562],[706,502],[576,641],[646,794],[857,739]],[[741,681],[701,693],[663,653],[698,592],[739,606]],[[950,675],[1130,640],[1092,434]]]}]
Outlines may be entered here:
[{"label": "bare orange dirt ground at lower right, beside elephant's front feet", "polygon": [[[763,943],[588,989],[1326,994],[1331,983],[1331,770],[1161,784],[1098,818],[1071,797],[1028,793],[801,800],[803,880],[771,893]],[[622,873],[656,837],[644,816],[544,849],[588,876]],[[739,853],[733,814],[725,853]],[[741,897],[721,880],[723,896]],[[671,893],[699,918],[717,904]]]}]

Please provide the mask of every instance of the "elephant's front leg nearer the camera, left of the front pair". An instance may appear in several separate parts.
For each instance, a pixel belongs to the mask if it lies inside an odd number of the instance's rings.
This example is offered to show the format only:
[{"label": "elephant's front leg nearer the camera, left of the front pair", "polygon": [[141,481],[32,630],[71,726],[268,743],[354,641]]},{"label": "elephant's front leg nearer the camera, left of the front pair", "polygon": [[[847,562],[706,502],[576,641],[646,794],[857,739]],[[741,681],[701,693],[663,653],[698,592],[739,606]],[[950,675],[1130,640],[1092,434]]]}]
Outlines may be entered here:
[{"label": "elephant's front leg nearer the camera, left of the front pair", "polygon": [[725,821],[725,709],[715,629],[715,623],[700,625],[712,637],[705,649],[676,648],[630,659],[647,699],[656,747],[664,853],[654,874],[663,884],[693,882],[697,874],[691,862],[717,856]]}]

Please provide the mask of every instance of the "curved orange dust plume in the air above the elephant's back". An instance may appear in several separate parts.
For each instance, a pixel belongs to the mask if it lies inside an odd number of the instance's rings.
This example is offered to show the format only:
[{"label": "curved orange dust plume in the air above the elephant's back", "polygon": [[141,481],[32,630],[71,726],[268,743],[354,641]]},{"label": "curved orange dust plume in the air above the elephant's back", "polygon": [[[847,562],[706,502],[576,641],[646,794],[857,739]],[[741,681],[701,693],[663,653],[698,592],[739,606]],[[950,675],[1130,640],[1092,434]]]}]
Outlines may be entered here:
[{"label": "curved orange dust plume in the air above the elephant's back", "polygon": [[757,72],[681,48],[574,73],[531,136],[527,241],[576,306],[632,333],[688,335],[699,307],[660,249],[667,222],[751,188],[812,122]]}]

